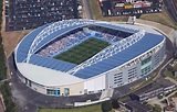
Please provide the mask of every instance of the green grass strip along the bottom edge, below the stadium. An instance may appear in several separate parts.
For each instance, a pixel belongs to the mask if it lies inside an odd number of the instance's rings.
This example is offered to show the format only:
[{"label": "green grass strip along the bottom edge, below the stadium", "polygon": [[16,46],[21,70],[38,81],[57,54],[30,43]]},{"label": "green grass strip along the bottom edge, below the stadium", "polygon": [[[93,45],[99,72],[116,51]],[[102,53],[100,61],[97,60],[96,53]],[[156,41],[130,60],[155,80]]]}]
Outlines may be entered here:
[{"label": "green grass strip along the bottom edge, below the stadium", "polygon": [[74,109],[39,109],[38,112],[102,112],[101,104]]}]

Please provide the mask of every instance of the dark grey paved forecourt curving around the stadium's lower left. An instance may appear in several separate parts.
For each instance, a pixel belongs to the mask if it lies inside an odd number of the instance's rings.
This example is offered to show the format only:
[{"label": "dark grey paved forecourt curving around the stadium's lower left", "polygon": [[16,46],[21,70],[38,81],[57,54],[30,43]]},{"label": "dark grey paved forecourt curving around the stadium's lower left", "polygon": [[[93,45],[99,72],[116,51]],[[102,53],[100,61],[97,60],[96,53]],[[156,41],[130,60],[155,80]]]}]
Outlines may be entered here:
[{"label": "dark grey paved forecourt curving around the stadium's lower left", "polygon": [[101,93],[80,96],[80,97],[50,97],[41,94],[32,89],[28,88],[21,80],[18,78],[18,71],[15,71],[13,65],[13,56],[9,57],[9,68],[13,72],[11,76],[11,89],[12,97],[20,109],[20,112],[35,112],[38,107],[42,108],[71,108],[73,102],[85,102],[86,100],[92,99],[98,100]]}]

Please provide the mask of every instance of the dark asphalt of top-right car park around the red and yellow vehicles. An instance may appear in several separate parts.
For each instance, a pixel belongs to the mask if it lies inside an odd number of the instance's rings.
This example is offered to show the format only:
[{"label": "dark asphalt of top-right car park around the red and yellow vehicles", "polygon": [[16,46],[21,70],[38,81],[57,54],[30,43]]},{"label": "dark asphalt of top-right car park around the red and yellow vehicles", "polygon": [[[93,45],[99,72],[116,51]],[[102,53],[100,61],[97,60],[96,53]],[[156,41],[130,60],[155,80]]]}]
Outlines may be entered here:
[{"label": "dark asphalt of top-right car park around the red and yellow vehicles", "polygon": [[[140,14],[145,13],[158,13],[162,12],[162,2],[158,0],[152,0],[153,4],[146,8],[115,8],[115,2],[117,0],[102,0],[101,10],[104,16],[117,16],[117,15],[136,15],[139,16]],[[110,10],[110,14],[108,14]]]}]

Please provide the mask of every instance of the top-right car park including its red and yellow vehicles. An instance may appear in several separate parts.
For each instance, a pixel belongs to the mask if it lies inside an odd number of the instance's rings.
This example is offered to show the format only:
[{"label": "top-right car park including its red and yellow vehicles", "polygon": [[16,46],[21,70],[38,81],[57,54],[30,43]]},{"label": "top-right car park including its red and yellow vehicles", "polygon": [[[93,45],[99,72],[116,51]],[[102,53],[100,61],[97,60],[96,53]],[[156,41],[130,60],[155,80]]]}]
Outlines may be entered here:
[{"label": "top-right car park including its red and yellow vehicles", "polygon": [[143,13],[162,12],[162,2],[159,0],[100,0],[100,8],[103,16],[139,16]]}]

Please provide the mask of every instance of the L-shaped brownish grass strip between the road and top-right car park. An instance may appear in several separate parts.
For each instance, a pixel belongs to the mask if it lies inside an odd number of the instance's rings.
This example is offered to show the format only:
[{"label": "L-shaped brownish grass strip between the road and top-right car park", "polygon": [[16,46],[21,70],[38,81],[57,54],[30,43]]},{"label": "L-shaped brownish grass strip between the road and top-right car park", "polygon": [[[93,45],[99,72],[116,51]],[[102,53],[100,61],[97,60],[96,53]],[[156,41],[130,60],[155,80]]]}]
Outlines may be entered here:
[{"label": "L-shaped brownish grass strip between the road and top-right car park", "polygon": [[90,1],[92,16],[95,20],[102,20],[102,21],[127,21],[128,20],[128,16],[103,16],[97,0],[88,0],[88,1]]}]

